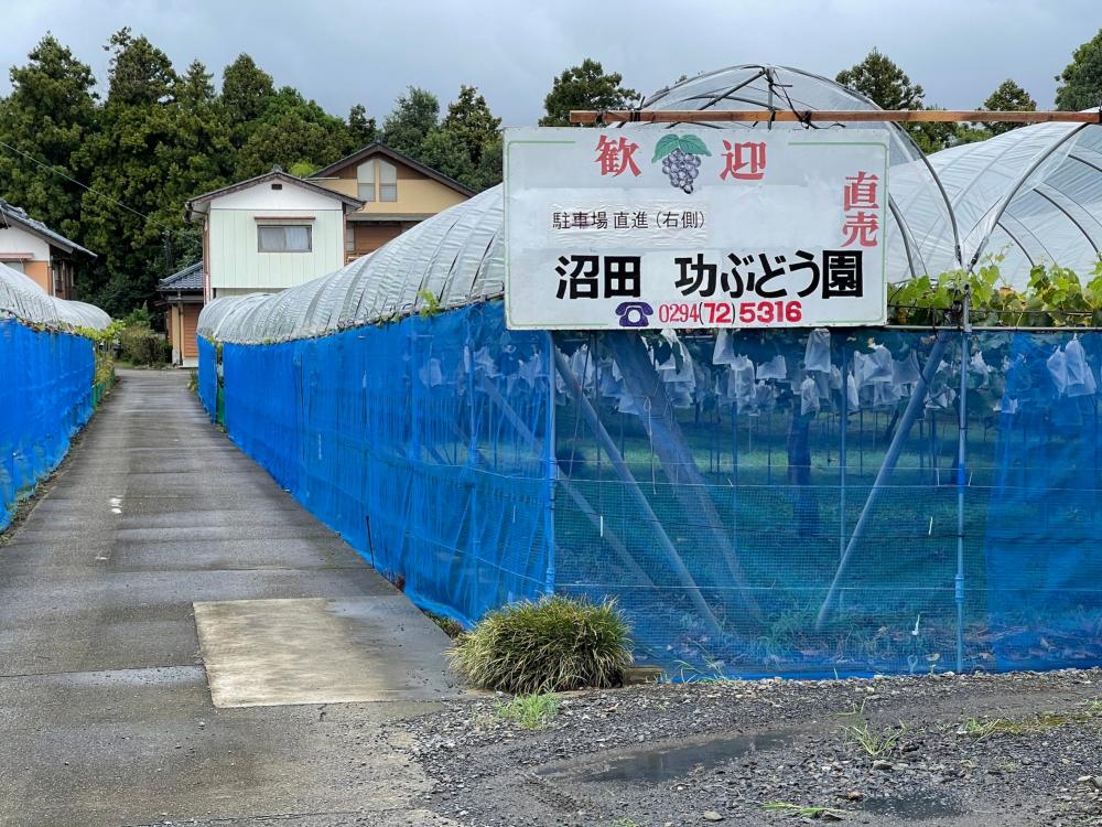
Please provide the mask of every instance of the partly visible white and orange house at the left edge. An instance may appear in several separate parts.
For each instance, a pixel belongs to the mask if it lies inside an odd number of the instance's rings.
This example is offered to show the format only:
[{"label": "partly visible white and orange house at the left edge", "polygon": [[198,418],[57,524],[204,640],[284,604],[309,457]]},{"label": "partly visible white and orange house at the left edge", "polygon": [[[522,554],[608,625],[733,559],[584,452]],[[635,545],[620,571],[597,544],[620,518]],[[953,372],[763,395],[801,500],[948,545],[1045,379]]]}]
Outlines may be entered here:
[{"label": "partly visible white and orange house at the left edge", "polygon": [[95,253],[0,198],[0,264],[31,277],[50,296],[75,299],[76,265],[95,258]]}]

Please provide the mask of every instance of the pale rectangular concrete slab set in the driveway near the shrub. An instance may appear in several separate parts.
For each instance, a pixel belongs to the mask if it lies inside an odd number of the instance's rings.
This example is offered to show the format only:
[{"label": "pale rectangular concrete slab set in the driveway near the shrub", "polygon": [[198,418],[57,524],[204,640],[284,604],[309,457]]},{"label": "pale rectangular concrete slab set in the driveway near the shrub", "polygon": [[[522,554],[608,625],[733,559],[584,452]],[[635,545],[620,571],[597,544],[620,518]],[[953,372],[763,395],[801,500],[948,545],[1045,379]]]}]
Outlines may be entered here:
[{"label": "pale rectangular concrete slab set in the driveway near the shrub", "polygon": [[219,708],[458,695],[447,636],[400,594],[195,603],[195,623]]}]

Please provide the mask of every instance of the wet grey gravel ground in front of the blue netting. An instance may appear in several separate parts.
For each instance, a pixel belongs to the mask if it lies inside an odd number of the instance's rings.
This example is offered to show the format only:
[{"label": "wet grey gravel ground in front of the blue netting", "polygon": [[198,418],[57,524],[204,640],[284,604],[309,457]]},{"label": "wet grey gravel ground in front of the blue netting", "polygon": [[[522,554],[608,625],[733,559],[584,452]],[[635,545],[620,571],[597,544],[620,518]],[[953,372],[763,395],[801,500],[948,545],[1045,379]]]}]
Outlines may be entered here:
[{"label": "wet grey gravel ground in front of the blue netting", "polygon": [[428,810],[478,827],[1102,825],[1098,669],[579,692],[539,731],[498,702],[395,724],[435,782]]}]

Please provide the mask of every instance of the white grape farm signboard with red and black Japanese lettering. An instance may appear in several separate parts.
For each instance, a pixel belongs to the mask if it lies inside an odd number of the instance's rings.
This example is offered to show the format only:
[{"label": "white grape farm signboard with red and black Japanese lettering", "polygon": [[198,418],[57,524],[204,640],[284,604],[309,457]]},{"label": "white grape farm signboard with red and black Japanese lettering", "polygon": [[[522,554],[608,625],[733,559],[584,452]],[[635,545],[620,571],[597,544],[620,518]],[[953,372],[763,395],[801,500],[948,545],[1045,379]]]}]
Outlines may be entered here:
[{"label": "white grape farm signboard with red and black Japanese lettering", "polygon": [[886,321],[882,131],[505,136],[510,327]]}]

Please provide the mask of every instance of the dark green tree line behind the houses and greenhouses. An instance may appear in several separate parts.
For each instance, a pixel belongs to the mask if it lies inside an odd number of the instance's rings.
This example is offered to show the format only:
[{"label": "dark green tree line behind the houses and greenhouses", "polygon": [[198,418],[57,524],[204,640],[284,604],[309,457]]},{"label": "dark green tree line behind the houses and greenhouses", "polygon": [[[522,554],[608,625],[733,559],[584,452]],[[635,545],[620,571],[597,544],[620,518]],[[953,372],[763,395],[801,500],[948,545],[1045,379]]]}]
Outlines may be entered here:
[{"label": "dark green tree line behind the houses and greenhouses", "polygon": [[[149,303],[158,279],[199,257],[185,201],[273,165],[306,175],[381,140],[476,191],[501,180],[501,120],[474,86],[461,85],[443,112],[435,95],[410,86],[379,126],[363,104],[342,118],[294,87],[277,87],[247,54],[225,67],[216,87],[202,62],[179,72],[130,29],[104,49],[110,60],[102,96],[90,66],[48,33],[11,68],[12,90],[0,98],[0,197],[99,254],[77,290],[112,315]],[[1102,104],[1102,30],[1056,79],[1058,109]],[[875,49],[836,80],[885,109],[937,108]],[[587,58],[553,78],[540,123],[565,126],[571,109],[619,109],[640,99],[619,73]],[[1031,110],[1037,103],[1006,79],[980,108]],[[906,128],[933,152],[1016,126]]]}]

